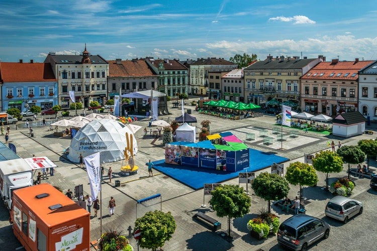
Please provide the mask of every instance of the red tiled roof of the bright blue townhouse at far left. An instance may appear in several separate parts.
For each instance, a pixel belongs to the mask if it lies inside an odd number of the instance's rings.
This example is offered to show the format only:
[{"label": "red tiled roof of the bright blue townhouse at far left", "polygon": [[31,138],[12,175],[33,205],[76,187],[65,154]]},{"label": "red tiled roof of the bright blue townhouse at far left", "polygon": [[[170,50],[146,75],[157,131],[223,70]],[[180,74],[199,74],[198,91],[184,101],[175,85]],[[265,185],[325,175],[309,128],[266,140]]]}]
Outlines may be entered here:
[{"label": "red tiled roof of the bright blue townhouse at far left", "polygon": [[0,63],[4,82],[57,81],[50,63]]}]

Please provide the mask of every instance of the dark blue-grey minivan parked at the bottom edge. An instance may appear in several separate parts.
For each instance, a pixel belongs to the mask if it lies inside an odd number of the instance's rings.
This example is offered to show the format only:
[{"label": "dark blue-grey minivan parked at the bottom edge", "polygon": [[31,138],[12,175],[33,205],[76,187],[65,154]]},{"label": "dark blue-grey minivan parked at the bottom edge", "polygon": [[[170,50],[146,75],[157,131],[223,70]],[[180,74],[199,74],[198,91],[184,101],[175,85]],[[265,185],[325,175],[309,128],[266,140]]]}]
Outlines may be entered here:
[{"label": "dark blue-grey minivan parked at the bottom edge", "polygon": [[315,241],[330,234],[330,225],[316,217],[296,214],[282,222],[277,230],[277,242],[294,250],[307,250]]}]

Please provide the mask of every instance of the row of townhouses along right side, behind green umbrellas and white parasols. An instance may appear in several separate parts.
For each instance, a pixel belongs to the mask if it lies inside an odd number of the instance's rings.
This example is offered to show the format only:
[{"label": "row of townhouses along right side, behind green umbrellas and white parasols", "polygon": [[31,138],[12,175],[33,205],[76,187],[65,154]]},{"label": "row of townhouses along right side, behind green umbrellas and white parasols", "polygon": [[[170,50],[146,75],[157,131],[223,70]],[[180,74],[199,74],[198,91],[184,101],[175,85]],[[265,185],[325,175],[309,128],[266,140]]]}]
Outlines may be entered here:
[{"label": "row of townhouses along right side, behind green umbrellas and white parasols", "polygon": [[359,110],[377,119],[377,63],[373,62],[357,58],[326,62],[322,55],[268,56],[243,69],[210,72],[209,98],[259,105],[274,98],[313,114],[335,116]]}]

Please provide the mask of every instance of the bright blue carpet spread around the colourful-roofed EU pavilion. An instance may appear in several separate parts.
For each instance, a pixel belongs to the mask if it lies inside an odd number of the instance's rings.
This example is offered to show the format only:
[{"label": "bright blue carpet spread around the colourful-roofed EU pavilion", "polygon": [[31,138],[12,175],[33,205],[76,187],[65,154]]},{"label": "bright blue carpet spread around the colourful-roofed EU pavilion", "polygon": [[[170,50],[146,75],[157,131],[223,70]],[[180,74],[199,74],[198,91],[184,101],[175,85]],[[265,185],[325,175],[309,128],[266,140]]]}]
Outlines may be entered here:
[{"label": "bright blue carpet spread around the colourful-roofed EU pavilion", "polygon": [[[258,150],[249,149],[250,166],[248,169],[239,171],[241,173],[255,172],[271,166],[273,163],[279,164],[289,159],[274,154],[264,153]],[[153,168],[157,171],[189,186],[195,190],[204,187],[208,183],[221,183],[238,177],[238,173],[228,173],[207,168],[187,167],[179,165],[166,164],[165,160],[153,162]]]}]

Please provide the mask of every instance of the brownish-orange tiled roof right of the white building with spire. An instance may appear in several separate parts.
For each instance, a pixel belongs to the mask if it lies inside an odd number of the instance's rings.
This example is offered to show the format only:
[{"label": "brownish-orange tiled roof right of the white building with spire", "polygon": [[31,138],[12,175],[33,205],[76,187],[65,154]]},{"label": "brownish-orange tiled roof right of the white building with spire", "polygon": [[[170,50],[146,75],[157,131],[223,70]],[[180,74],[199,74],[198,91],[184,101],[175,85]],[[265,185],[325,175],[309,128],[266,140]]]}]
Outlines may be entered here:
[{"label": "brownish-orange tiled roof right of the white building with spire", "polygon": [[116,60],[108,60],[109,77],[157,76],[144,60],[122,60],[121,62],[122,64],[117,64]]}]

